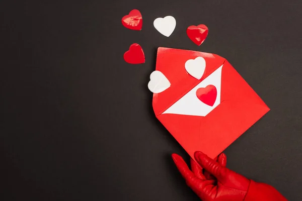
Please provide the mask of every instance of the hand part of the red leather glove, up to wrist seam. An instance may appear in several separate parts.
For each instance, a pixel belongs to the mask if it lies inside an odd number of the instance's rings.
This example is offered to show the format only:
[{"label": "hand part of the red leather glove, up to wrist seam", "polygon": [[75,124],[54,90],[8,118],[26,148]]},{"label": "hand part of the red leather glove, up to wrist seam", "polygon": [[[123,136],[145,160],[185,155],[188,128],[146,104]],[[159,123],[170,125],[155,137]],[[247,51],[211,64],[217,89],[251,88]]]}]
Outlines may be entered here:
[{"label": "hand part of the red leather glove, up to wrist seam", "polygon": [[195,152],[194,156],[199,165],[205,169],[204,173],[194,160],[191,159],[191,171],[181,156],[172,154],[186,183],[203,201],[244,200],[250,180],[226,168],[224,154],[218,156],[218,162],[202,152]]}]

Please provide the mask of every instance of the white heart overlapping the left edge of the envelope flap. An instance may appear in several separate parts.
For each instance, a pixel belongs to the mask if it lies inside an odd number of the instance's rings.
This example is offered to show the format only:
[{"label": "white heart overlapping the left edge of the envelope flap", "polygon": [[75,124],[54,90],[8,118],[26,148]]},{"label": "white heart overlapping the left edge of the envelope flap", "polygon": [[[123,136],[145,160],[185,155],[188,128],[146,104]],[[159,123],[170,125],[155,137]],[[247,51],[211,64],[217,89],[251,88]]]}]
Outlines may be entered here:
[{"label": "white heart overlapping the left edge of the envelope flap", "polygon": [[161,71],[153,71],[150,74],[150,81],[148,83],[148,88],[154,93],[160,93],[171,86],[170,81]]}]

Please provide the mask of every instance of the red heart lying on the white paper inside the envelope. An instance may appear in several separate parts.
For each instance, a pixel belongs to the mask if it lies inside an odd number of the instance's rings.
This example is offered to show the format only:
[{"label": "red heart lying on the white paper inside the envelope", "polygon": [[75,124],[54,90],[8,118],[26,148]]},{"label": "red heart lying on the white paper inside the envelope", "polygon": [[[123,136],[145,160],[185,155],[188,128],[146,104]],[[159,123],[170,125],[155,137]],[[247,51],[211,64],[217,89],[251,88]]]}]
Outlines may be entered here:
[{"label": "red heart lying on the white paper inside the envelope", "polygon": [[196,96],[201,100],[202,103],[213,106],[216,97],[217,97],[217,89],[214,85],[207,85],[205,88],[198,88],[196,91]]}]

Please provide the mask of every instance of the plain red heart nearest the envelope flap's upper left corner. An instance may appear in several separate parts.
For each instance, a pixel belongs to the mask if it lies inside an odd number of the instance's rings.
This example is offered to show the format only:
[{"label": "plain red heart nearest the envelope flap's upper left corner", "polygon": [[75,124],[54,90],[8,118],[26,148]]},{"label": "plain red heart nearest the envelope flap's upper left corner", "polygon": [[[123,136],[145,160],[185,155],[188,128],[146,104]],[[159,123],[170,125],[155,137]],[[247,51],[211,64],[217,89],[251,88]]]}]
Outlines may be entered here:
[{"label": "plain red heart nearest the envelope flap's upper left corner", "polygon": [[137,43],[133,43],[132,45],[130,45],[129,50],[124,53],[124,60],[127,63],[131,64],[144,63],[144,53],[140,45],[138,45]]}]

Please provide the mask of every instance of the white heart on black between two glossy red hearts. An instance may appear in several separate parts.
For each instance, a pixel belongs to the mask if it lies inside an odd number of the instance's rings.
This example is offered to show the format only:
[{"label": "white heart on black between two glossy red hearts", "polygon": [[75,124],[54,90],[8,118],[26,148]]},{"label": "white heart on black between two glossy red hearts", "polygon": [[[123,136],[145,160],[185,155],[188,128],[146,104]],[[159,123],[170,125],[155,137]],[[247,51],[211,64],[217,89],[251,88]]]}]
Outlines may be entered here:
[{"label": "white heart on black between two glossy red hearts", "polygon": [[153,25],[161,34],[169,37],[176,27],[176,20],[172,16],[166,16],[165,18],[155,19]]}]

